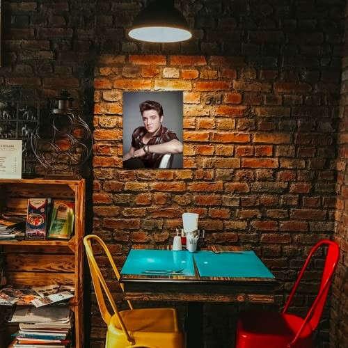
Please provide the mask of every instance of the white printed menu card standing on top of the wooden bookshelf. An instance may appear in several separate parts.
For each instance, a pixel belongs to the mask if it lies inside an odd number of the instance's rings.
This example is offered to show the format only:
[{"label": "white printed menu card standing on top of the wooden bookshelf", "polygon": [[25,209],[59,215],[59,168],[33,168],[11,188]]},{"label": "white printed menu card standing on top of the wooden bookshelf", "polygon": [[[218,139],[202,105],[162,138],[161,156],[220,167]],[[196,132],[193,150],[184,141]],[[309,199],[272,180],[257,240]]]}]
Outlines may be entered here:
[{"label": "white printed menu card standing on top of the wooden bookshelf", "polygon": [[22,177],[22,140],[0,140],[0,179]]}]

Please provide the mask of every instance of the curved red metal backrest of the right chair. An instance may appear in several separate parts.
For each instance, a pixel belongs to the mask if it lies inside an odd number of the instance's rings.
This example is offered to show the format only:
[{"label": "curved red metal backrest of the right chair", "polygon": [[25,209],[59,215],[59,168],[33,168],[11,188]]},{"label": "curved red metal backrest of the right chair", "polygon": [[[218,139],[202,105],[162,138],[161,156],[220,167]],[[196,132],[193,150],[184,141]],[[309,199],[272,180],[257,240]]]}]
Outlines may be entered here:
[{"label": "curved red metal backrest of the right chair", "polygon": [[338,246],[338,244],[336,244],[335,242],[331,242],[329,240],[323,240],[317,243],[310,251],[306,259],[306,262],[301,269],[299,277],[297,278],[296,283],[294,284],[294,287],[292,288],[289,299],[287,299],[287,303],[285,304],[285,307],[283,310],[283,313],[285,313],[287,308],[289,308],[290,302],[292,301],[292,298],[294,297],[297,287],[299,287],[301,278],[303,277],[303,274],[305,273],[306,268],[308,264],[310,263],[310,260],[313,254],[315,253],[315,251],[317,251],[318,248],[322,246],[328,246],[328,248],[327,248],[326,259],[324,263],[324,269],[322,273],[322,280],[320,282],[319,292],[317,296],[315,297],[315,300],[313,301],[312,306],[310,306],[308,313],[306,314],[306,317],[303,321],[303,325],[301,326],[301,329],[296,334],[296,337],[294,338],[294,340],[290,343],[290,346],[294,344],[297,338],[299,338],[299,336],[301,335],[301,332],[303,331],[303,329],[305,328],[307,324],[309,324],[310,327],[313,330],[315,330],[315,328],[319,324],[319,319],[322,316],[322,311],[326,301],[326,296],[329,292],[329,287],[331,285],[333,273],[335,271],[335,268],[337,267],[338,258],[340,256],[340,247]]}]

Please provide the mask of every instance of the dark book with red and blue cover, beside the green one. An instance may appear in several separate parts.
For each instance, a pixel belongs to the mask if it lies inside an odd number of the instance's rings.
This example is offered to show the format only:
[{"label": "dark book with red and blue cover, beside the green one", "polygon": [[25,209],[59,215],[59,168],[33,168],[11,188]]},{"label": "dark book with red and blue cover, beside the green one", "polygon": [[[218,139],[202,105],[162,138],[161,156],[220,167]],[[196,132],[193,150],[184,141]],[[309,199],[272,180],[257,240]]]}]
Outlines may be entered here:
[{"label": "dark book with red and blue cover, beside the green one", "polygon": [[26,217],[26,239],[46,239],[47,198],[29,198]]}]

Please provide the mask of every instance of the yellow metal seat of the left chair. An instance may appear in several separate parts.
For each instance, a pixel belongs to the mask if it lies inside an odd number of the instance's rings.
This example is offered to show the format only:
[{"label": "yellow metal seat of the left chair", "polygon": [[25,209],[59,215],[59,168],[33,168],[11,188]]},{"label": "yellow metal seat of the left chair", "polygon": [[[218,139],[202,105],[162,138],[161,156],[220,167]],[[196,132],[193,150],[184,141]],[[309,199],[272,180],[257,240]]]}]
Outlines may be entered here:
[{"label": "yellow metal seat of the left chair", "polygon": [[[174,308],[143,308],[120,312],[129,335],[136,345],[158,348],[183,348],[184,335],[177,325]],[[129,347],[116,315],[111,317],[106,335],[108,348]]]}]

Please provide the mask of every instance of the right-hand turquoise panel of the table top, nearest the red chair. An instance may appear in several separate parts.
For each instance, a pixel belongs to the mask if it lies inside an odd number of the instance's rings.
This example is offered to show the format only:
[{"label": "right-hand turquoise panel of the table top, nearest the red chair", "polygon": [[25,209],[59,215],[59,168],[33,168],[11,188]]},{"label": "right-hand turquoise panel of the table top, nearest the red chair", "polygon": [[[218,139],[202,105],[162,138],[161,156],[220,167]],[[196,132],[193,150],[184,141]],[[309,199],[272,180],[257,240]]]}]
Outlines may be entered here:
[{"label": "right-hand turquoise panel of the table top, nearest the red chair", "polygon": [[198,251],[193,258],[201,277],[274,278],[253,251],[220,254]]}]

